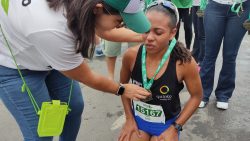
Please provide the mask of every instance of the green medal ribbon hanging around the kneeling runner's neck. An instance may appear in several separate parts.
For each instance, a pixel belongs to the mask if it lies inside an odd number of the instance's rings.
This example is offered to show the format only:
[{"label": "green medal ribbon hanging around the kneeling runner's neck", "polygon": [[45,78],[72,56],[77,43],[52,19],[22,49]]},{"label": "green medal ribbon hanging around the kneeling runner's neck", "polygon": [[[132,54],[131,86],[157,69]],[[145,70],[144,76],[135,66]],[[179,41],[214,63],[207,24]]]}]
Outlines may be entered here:
[{"label": "green medal ribbon hanging around the kneeling runner's neck", "polygon": [[159,73],[159,71],[161,70],[162,66],[164,65],[164,63],[167,61],[170,53],[172,52],[173,48],[175,47],[176,44],[176,39],[173,38],[173,40],[171,41],[168,50],[165,52],[165,54],[163,55],[161,62],[157,68],[157,70],[155,71],[154,76],[150,79],[150,81],[147,81],[147,70],[146,70],[146,47],[145,45],[142,48],[142,57],[141,57],[141,61],[142,61],[142,80],[143,80],[143,87],[150,91],[150,88],[154,82],[155,76]]}]

